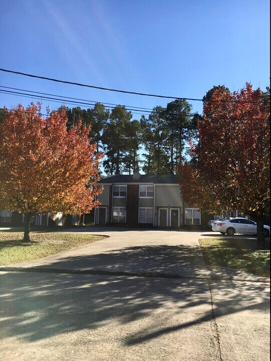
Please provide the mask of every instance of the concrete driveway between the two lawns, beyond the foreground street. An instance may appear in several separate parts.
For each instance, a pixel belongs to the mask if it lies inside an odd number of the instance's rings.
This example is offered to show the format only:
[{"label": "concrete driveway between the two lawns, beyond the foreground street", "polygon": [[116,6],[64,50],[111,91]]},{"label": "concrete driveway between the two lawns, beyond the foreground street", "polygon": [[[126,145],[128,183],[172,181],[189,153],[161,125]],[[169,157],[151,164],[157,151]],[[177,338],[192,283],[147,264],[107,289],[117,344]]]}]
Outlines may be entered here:
[{"label": "concrete driveway between the two lawns, beyond the foreground street", "polygon": [[107,274],[124,272],[139,276],[147,274],[258,280],[258,277],[242,271],[205,267],[198,239],[204,237],[224,238],[212,231],[84,227],[65,230],[65,232],[103,235],[106,238],[91,245],[78,247],[37,261],[22,263],[20,266],[81,270],[90,273],[103,271]]}]

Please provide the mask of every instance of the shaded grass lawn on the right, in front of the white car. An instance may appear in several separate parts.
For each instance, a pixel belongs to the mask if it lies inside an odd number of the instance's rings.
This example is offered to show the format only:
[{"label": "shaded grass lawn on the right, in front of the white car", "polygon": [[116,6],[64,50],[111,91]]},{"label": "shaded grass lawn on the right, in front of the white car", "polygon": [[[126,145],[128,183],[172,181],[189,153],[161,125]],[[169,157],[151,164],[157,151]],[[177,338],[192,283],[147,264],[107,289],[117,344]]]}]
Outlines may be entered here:
[{"label": "shaded grass lawn on the right, in front of the white car", "polygon": [[257,240],[201,238],[206,266],[224,266],[270,277],[270,251],[257,250]]}]

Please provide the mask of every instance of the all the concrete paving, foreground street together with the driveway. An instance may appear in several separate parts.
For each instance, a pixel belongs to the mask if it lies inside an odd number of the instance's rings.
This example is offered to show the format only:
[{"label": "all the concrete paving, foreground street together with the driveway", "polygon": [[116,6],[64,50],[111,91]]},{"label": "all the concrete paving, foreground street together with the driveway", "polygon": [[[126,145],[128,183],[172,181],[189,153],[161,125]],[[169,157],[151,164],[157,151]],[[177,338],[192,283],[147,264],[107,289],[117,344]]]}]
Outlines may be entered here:
[{"label": "all the concrete paving, foreground street together with the driveway", "polygon": [[[221,270],[223,280],[208,279],[215,273],[205,269],[197,239],[209,233],[106,228],[90,233],[110,237],[20,265],[42,272],[1,273],[0,358],[268,359],[269,284],[241,275],[227,279]],[[120,271],[126,275],[117,276]]]}]

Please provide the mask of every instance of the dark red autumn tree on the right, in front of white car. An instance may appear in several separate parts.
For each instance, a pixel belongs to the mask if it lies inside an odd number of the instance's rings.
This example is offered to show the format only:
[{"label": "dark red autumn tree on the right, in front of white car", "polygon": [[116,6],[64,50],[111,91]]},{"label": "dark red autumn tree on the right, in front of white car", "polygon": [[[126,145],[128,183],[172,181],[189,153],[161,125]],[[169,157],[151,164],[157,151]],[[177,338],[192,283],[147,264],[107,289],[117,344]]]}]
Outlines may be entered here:
[{"label": "dark red autumn tree on the right, in front of white car", "polygon": [[237,209],[249,215],[257,222],[259,248],[264,246],[263,217],[270,214],[269,117],[269,89],[253,91],[247,83],[230,93],[216,87],[198,120],[193,162],[180,166],[185,202],[210,213]]}]

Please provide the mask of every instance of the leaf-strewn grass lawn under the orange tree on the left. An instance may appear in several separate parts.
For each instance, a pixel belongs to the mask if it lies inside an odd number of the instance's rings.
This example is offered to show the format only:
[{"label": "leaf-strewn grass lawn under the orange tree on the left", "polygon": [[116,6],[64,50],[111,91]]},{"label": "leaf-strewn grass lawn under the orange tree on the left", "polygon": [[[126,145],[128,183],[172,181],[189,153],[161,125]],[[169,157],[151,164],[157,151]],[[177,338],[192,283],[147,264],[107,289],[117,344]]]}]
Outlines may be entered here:
[{"label": "leaf-strewn grass lawn under the orange tree on the left", "polygon": [[103,236],[69,233],[31,232],[23,242],[23,232],[0,232],[0,266],[33,261],[103,239]]}]

